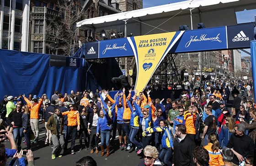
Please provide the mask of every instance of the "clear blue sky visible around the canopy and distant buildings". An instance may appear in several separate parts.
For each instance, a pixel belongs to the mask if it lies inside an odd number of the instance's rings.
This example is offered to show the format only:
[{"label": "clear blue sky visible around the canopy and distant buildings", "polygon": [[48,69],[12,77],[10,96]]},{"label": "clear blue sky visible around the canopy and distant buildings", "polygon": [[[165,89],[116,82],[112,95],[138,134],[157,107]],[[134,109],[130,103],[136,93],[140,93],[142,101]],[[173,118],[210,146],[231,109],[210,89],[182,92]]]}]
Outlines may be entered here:
[{"label": "clear blue sky visible around the canopy and distant buildings", "polygon": [[[186,1],[186,0],[143,0],[143,8],[148,8],[148,7],[158,6],[158,5],[165,5],[165,4],[170,4],[170,3],[176,3],[176,2],[181,2],[181,1]],[[236,18],[237,18],[238,24],[254,22],[255,16],[256,16],[256,10],[245,10],[245,11],[236,12]],[[245,50],[251,52],[250,49],[245,49]],[[241,54],[245,55],[245,56],[248,55],[244,52],[241,52]]]}]

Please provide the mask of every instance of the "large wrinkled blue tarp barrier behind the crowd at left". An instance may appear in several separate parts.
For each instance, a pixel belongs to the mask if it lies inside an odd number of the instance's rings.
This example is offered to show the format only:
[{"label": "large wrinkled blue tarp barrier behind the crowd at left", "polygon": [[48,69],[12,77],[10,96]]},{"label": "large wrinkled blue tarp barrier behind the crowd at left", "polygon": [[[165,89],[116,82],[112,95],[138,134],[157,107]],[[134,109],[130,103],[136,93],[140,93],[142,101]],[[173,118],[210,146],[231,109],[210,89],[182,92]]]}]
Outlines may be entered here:
[{"label": "large wrinkled blue tarp barrier behind the crowd at left", "polygon": [[[0,49],[0,99],[4,95],[25,93],[50,98],[54,90],[61,93],[80,91],[83,63],[80,67],[50,66],[50,55]],[[83,80],[85,81],[85,80]]]}]

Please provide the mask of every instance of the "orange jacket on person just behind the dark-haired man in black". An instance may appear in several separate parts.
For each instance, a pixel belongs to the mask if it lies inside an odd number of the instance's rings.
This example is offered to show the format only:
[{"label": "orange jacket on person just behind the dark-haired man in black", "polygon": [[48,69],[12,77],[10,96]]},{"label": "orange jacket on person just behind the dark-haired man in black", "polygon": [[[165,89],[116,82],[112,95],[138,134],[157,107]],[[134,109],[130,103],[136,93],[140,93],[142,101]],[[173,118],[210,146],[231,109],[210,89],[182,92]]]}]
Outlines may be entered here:
[{"label": "orange jacket on person just behind the dark-haired man in black", "polygon": [[195,122],[197,115],[188,111],[184,112],[185,126],[187,128],[187,134],[196,134]]}]

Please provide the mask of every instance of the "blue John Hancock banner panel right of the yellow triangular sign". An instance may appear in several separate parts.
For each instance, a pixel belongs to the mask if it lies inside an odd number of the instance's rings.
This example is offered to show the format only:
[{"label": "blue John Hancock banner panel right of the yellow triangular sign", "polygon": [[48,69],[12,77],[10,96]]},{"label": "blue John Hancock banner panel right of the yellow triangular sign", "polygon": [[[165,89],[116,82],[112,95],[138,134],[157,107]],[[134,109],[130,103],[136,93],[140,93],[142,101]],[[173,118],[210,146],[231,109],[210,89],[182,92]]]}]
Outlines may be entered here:
[{"label": "blue John Hancock banner panel right of the yellow triangular sign", "polygon": [[227,49],[226,27],[186,30],[176,45],[171,52]]}]

